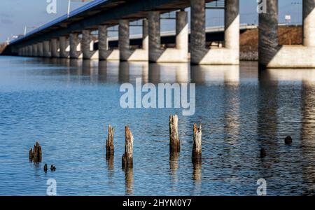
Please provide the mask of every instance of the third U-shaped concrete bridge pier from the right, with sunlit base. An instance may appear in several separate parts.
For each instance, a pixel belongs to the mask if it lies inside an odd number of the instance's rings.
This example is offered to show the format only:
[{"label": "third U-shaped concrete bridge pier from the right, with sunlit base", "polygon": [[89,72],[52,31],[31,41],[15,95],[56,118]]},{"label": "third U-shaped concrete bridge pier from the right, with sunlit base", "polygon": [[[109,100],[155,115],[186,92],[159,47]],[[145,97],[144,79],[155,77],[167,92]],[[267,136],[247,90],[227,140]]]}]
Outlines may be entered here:
[{"label": "third U-shaped concrete bridge pier from the right, with sunlit base", "polygon": [[160,12],[148,15],[149,61],[188,62],[188,14],[176,12],[176,48],[161,48]]}]

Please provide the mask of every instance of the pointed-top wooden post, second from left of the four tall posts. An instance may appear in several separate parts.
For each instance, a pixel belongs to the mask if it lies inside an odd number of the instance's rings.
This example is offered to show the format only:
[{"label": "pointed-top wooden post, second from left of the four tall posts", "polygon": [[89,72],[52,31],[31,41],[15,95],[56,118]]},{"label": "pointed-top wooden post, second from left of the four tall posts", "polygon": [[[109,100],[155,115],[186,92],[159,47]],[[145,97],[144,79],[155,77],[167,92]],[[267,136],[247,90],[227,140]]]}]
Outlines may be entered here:
[{"label": "pointed-top wooden post, second from left of the four tall posts", "polygon": [[129,125],[125,127],[125,153],[122,158],[123,169],[132,168],[133,166],[133,146],[134,137],[130,131]]}]

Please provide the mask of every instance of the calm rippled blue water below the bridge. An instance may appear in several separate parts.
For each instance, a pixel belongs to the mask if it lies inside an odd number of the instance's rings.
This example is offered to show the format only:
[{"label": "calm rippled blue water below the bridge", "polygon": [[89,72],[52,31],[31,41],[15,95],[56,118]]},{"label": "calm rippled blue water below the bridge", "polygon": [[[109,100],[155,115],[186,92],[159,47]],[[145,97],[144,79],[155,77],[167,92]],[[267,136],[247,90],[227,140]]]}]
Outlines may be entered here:
[{"label": "calm rippled blue water below the bridge", "polygon": [[[196,113],[122,109],[121,83],[196,83]],[[169,160],[169,114],[179,114],[181,154]],[[115,158],[106,161],[107,125]],[[191,162],[193,123],[202,123],[202,165]],[[121,169],[125,125],[134,169]],[[291,135],[292,146],[283,139]],[[28,160],[39,141],[43,163]],[[261,147],[267,157],[260,160]],[[315,70],[258,72],[241,66],[79,62],[0,57],[0,195],[315,194]],[[45,162],[56,172],[43,172]]]}]

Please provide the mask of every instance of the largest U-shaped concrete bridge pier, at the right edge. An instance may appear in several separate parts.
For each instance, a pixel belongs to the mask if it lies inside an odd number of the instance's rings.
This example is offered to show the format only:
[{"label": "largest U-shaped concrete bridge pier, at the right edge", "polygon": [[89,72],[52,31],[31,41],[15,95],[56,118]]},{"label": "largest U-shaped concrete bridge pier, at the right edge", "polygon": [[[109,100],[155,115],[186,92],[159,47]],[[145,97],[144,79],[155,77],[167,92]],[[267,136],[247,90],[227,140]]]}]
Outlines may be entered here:
[{"label": "largest U-shaped concrete bridge pier, at the right edge", "polygon": [[315,68],[315,0],[303,0],[303,45],[279,45],[278,0],[259,14],[258,62],[262,68]]}]

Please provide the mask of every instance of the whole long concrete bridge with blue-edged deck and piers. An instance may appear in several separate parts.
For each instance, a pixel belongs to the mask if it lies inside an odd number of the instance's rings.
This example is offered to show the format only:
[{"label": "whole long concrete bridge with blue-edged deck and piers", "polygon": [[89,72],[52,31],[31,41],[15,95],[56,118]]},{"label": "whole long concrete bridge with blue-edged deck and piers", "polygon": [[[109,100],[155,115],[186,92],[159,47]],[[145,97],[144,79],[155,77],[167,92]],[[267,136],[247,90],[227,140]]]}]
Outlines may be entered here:
[{"label": "whole long concrete bridge with blue-edged deck and piers", "polygon": [[[8,45],[15,55],[192,64],[239,64],[239,0],[222,0],[225,14],[221,48],[206,44],[206,9],[211,0],[95,0]],[[259,64],[270,68],[315,68],[315,0],[303,0],[303,44],[279,45],[278,0],[259,14]],[[188,12],[190,8],[190,33]],[[176,11],[176,45],[162,48],[160,17]],[[141,20],[140,48],[130,47],[130,22]],[[109,48],[108,28],[118,25],[118,49]],[[98,31],[93,48],[91,31]],[[81,34],[79,36],[79,34]],[[190,34],[190,38],[189,38]],[[80,38],[81,37],[81,38]]]}]

